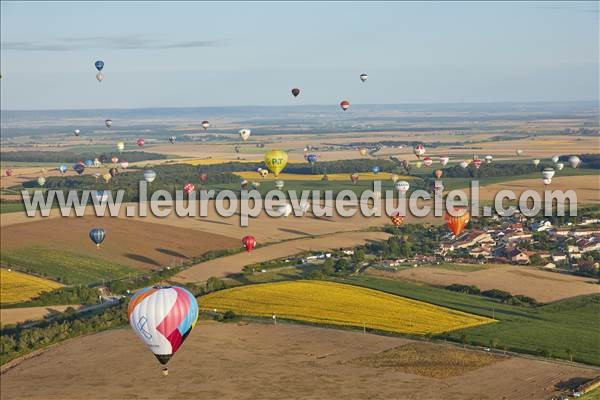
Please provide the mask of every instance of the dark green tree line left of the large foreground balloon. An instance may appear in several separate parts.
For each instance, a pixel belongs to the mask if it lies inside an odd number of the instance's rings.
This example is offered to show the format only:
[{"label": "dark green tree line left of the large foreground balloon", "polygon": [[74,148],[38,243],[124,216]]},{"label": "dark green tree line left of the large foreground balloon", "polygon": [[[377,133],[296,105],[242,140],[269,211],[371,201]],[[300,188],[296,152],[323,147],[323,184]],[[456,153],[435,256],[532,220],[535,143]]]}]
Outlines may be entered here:
[{"label": "dark green tree line left of the large foreground balloon", "polygon": [[126,315],[127,303],[120,302],[100,311],[75,313],[71,308],[57,318],[29,328],[3,328],[0,330],[0,364],[65,339],[123,326],[127,323]]}]

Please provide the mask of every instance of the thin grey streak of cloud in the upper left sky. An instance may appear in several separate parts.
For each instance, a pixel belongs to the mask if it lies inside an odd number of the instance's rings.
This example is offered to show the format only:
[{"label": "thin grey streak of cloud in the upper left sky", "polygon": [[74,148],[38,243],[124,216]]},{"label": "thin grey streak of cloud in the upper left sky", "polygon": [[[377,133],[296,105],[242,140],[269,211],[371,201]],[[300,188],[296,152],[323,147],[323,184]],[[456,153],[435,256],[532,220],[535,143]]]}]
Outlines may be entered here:
[{"label": "thin grey streak of cloud in the upper left sky", "polygon": [[226,43],[227,41],[225,40],[165,42],[143,35],[127,35],[114,37],[70,37],[50,41],[9,41],[2,42],[2,49],[16,51],[72,51],[82,49],[152,50],[217,47],[223,46]]}]

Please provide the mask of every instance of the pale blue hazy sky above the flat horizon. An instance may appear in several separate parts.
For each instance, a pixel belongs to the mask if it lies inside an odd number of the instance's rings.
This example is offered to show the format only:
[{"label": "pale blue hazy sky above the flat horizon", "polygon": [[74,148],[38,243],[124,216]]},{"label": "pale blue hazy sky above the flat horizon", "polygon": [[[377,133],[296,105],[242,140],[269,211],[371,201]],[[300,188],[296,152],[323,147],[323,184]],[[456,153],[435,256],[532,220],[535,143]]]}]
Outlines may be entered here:
[{"label": "pale blue hazy sky above the flat horizon", "polygon": [[1,4],[2,109],[598,100],[597,2]]}]

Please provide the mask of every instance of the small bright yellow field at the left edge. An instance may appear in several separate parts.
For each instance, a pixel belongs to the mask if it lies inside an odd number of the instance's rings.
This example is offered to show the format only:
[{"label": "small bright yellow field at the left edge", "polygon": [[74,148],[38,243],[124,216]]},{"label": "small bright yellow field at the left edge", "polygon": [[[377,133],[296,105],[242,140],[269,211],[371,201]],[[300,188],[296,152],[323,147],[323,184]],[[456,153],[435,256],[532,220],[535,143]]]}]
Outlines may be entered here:
[{"label": "small bright yellow field at the left edge", "polygon": [[0,268],[0,304],[29,300],[62,285],[47,279]]}]

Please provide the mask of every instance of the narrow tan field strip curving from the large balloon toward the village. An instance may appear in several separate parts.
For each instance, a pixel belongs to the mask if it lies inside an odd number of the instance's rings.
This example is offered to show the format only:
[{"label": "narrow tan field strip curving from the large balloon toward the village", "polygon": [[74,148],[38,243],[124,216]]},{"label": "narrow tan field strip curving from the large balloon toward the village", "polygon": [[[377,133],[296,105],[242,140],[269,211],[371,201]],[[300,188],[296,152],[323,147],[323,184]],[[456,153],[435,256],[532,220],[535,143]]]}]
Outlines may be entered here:
[{"label": "narrow tan field strip curving from the large balloon toward the village", "polygon": [[388,236],[384,232],[343,232],[314,239],[290,240],[257,248],[250,254],[243,252],[196,264],[175,275],[173,280],[183,283],[205,281],[211,276],[224,277],[239,273],[246,265],[283,258],[302,251],[354,247],[370,240],[384,240]]}]

